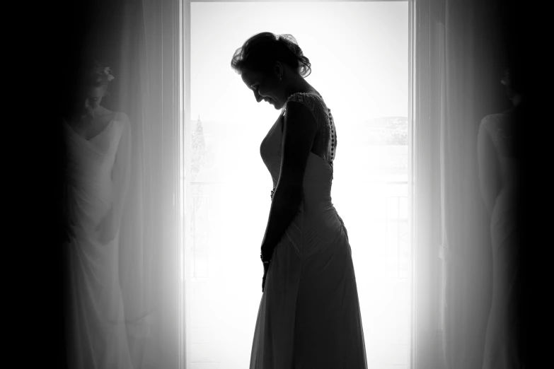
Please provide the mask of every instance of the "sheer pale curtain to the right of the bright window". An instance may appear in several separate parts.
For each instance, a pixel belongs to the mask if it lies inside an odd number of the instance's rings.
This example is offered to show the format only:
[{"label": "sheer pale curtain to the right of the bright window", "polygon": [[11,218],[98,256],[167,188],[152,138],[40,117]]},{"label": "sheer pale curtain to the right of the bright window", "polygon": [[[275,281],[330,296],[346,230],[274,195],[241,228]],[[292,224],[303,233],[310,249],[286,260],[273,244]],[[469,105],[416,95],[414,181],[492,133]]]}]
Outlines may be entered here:
[{"label": "sheer pale curtain to the right of the bright window", "polygon": [[415,1],[417,368],[483,367],[493,260],[477,139],[483,117],[510,107],[500,80],[521,52],[514,4]]}]

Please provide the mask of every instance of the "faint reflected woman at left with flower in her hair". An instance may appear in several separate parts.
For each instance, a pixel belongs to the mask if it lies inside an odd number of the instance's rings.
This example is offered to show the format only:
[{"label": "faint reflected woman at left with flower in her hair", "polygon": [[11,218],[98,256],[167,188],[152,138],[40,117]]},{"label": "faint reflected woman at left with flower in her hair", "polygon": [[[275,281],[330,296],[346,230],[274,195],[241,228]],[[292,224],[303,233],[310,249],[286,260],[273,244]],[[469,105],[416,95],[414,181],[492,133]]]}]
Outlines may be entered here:
[{"label": "faint reflected woman at left with flower in her hair", "polygon": [[66,127],[67,347],[69,368],[132,368],[118,268],[118,235],[129,182],[130,127],[100,105],[113,79],[97,61],[80,73]]}]

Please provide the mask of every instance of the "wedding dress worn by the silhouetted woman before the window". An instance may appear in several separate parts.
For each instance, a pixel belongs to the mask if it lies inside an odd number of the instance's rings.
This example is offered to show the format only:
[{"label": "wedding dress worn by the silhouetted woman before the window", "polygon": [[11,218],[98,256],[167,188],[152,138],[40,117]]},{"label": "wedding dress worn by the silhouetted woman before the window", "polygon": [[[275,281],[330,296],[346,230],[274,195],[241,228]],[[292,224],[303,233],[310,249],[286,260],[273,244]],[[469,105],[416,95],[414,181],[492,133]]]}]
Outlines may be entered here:
[{"label": "wedding dress worn by the silhouetted woman before the window", "polygon": [[[275,247],[267,271],[250,369],[365,369],[352,250],[330,196],[337,146],[333,117],[319,95],[296,93],[289,101],[311,110],[318,133],[306,163],[299,212]],[[260,146],[274,187],[281,165],[283,117]]]}]

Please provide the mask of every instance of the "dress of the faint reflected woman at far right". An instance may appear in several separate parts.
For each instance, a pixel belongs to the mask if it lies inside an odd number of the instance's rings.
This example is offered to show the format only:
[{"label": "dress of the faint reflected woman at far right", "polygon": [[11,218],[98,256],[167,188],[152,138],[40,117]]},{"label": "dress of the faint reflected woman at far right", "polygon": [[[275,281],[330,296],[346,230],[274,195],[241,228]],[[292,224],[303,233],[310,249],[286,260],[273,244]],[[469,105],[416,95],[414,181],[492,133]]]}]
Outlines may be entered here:
[{"label": "dress of the faint reflected woman at far right", "polygon": [[[514,154],[514,110],[487,115],[481,124],[500,164],[500,191],[490,217],[492,305],[487,322],[483,369],[521,368],[518,337],[519,227],[516,219],[519,159]],[[517,122],[516,122],[517,123]],[[484,160],[483,158],[482,160]]]}]

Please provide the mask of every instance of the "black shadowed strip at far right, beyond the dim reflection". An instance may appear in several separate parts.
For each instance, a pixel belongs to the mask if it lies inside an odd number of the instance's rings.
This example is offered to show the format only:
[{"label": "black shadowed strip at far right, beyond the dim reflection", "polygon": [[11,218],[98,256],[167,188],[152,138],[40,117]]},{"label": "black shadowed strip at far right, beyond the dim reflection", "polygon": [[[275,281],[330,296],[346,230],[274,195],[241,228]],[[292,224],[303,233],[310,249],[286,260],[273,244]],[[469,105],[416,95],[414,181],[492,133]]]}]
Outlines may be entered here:
[{"label": "black shadowed strip at far right, beyond the dim reflection", "polygon": [[[491,1],[491,0],[489,0]],[[492,1],[491,1],[492,2]],[[516,316],[521,323],[521,347],[528,368],[541,368],[550,362],[543,349],[546,336],[541,329],[550,315],[544,307],[544,292],[552,259],[545,246],[551,243],[550,172],[552,172],[552,62],[546,57],[551,48],[551,20],[541,3],[494,0],[500,20],[497,40],[502,43],[504,60],[512,66],[512,81],[523,101],[514,122],[517,155],[521,160],[517,223],[522,278],[514,288],[519,293]]]}]

